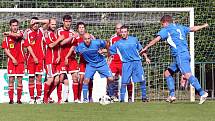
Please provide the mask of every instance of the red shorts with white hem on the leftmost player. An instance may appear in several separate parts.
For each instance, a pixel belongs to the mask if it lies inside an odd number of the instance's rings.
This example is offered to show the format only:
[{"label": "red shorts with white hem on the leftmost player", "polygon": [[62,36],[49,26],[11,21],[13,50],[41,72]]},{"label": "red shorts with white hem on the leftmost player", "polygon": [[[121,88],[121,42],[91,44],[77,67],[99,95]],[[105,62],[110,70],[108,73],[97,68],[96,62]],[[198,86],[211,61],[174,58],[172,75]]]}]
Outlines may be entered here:
[{"label": "red shorts with white hem on the leftmost player", "polygon": [[18,65],[15,66],[13,62],[9,60],[7,63],[7,71],[8,76],[24,76],[24,63],[18,63]]}]

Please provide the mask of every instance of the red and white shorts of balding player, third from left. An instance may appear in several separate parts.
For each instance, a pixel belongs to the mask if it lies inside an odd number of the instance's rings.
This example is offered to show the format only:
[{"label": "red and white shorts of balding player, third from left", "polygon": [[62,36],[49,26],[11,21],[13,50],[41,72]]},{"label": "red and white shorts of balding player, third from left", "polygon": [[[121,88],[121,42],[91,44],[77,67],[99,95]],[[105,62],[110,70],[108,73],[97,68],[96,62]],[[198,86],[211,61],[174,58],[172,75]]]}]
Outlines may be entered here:
[{"label": "red and white shorts of balding player, third from left", "polygon": [[58,65],[56,64],[47,64],[46,65],[46,74],[47,77],[54,77],[60,73],[60,70],[58,70]]}]

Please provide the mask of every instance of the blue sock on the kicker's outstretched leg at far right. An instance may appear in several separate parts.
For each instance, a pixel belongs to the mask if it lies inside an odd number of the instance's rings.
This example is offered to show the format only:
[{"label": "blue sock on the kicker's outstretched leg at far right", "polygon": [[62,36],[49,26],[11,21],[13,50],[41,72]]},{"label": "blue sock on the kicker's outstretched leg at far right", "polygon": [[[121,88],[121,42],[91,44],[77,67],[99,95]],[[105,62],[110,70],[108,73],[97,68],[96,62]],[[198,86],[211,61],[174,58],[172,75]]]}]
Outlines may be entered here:
[{"label": "blue sock on the kicker's outstretched leg at far right", "polygon": [[202,96],[204,95],[204,91],[201,88],[201,85],[199,84],[199,81],[196,77],[194,77],[193,75],[190,76],[190,78],[188,79],[188,81],[190,82],[190,84],[195,87],[195,89],[199,92],[199,95]]}]

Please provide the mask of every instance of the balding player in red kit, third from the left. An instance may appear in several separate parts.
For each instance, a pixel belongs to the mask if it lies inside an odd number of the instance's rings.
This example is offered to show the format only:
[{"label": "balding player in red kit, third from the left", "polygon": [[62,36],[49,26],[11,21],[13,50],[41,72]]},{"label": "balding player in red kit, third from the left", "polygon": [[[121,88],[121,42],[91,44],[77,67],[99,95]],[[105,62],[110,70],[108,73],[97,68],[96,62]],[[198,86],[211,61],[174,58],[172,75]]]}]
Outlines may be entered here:
[{"label": "balding player in red kit, third from the left", "polygon": [[52,91],[57,88],[58,103],[61,103],[62,97],[62,86],[59,84],[59,74],[60,74],[60,52],[59,52],[59,43],[64,39],[64,36],[59,36],[57,38],[56,31],[56,19],[49,19],[48,32],[45,34],[45,42],[47,45],[46,49],[46,74],[47,81],[44,83],[44,98],[43,101],[45,104],[48,103],[48,98],[51,95]]}]

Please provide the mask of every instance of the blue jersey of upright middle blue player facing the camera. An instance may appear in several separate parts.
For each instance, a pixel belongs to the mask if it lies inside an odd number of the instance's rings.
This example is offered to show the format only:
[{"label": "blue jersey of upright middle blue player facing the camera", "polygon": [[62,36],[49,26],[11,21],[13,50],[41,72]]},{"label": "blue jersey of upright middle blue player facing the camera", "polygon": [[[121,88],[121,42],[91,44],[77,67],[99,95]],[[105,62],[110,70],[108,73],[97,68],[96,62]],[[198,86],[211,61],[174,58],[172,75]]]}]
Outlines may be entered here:
[{"label": "blue jersey of upright middle blue player facing the camera", "polygon": [[136,37],[128,36],[128,39],[120,39],[110,47],[110,54],[119,54],[122,62],[141,60],[139,51],[142,49]]}]

